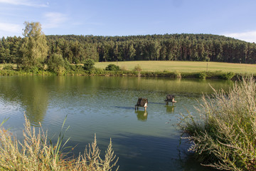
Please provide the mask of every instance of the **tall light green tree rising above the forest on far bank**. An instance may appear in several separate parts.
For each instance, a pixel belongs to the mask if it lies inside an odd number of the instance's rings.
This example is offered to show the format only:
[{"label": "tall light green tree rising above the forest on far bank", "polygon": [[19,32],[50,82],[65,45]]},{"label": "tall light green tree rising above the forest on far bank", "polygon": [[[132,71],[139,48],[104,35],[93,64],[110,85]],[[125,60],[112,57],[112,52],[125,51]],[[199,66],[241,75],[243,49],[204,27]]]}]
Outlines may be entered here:
[{"label": "tall light green tree rising above the forest on far bank", "polygon": [[43,68],[48,55],[48,45],[39,22],[25,22],[23,41],[19,49],[18,67]]}]

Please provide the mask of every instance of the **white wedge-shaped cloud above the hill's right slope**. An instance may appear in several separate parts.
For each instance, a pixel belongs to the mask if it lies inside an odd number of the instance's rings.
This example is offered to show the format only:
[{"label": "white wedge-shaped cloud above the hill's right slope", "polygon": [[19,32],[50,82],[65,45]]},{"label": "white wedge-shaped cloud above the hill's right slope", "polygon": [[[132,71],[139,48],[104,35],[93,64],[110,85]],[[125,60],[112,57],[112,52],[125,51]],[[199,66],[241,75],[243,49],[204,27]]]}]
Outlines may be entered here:
[{"label": "white wedge-shaped cloud above the hill's right slope", "polygon": [[223,33],[224,36],[238,38],[242,41],[256,42],[256,31],[247,31],[242,33]]}]

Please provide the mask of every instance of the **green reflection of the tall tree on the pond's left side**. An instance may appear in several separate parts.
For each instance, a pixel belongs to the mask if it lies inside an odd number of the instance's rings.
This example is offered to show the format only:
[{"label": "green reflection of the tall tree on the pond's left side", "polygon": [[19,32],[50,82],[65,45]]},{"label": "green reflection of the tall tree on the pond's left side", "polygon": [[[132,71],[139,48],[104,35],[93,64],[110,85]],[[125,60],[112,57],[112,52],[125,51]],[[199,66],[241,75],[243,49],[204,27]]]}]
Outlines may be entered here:
[{"label": "green reflection of the tall tree on the pond's left side", "polygon": [[5,100],[15,101],[31,121],[31,125],[38,126],[43,121],[48,107],[48,90],[44,78],[41,77],[5,77],[1,81],[11,83],[8,86],[1,86],[0,94]]}]

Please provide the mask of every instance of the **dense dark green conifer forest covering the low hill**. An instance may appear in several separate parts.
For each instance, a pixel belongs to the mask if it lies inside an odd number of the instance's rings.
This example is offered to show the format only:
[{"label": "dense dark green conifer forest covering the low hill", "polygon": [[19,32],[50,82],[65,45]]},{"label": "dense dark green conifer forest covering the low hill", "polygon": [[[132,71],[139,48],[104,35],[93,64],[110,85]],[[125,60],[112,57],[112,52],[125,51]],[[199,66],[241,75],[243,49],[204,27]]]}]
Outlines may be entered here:
[{"label": "dense dark green conifer forest covering the low hill", "polygon": [[[16,63],[21,37],[0,39],[0,63]],[[46,36],[48,58],[70,63],[94,61],[216,61],[256,63],[256,45],[212,34],[146,36]]]}]

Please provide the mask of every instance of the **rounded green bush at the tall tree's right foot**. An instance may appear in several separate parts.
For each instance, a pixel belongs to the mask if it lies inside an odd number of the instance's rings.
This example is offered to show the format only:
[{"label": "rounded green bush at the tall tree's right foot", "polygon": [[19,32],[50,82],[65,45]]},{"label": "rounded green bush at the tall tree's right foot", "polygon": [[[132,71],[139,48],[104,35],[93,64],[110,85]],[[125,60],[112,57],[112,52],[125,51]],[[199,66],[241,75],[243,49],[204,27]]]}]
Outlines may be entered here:
[{"label": "rounded green bush at the tall tree's right foot", "polygon": [[65,71],[65,61],[60,54],[54,53],[48,59],[48,70],[58,73],[58,75],[62,75]]}]

